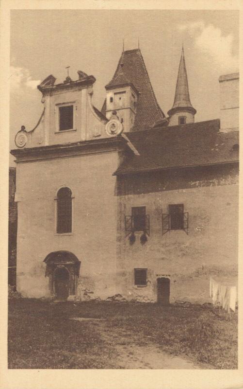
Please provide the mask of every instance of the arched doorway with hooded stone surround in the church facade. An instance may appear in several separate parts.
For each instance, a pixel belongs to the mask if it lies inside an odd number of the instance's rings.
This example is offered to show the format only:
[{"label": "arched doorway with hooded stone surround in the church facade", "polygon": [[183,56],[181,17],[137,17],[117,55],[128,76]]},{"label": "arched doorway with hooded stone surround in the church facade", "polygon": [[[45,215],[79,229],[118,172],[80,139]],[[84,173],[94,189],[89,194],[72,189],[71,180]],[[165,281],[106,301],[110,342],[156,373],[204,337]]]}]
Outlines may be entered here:
[{"label": "arched doorway with hooded stone surround in the church facade", "polygon": [[74,300],[81,264],[78,258],[69,251],[53,251],[44,262],[51,296],[58,300]]}]

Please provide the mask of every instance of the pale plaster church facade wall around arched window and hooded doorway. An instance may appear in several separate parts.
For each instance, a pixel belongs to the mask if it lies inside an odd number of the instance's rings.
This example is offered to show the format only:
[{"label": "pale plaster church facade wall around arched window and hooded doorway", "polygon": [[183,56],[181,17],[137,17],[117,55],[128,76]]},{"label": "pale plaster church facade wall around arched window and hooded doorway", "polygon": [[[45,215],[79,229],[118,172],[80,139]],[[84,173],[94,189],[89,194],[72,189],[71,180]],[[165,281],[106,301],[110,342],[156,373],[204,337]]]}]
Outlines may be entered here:
[{"label": "pale plaster church facade wall around arched window and hooded doorway", "polygon": [[[81,261],[78,298],[84,292],[115,294],[117,152],[18,163],[17,290],[25,297],[49,296],[45,257],[66,250]],[[74,174],[75,173],[75,174]],[[56,193],[72,190],[73,232],[56,234]]]}]

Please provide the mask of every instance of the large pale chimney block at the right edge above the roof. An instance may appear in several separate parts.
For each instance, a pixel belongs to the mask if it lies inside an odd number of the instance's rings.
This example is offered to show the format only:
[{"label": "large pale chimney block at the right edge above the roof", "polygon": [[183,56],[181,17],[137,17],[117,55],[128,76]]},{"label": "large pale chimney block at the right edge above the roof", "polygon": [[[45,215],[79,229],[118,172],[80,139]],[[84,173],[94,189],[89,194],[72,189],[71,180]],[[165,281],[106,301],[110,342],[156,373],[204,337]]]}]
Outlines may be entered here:
[{"label": "large pale chimney block at the right edge above the roof", "polygon": [[239,130],[239,73],[219,77],[220,130]]}]

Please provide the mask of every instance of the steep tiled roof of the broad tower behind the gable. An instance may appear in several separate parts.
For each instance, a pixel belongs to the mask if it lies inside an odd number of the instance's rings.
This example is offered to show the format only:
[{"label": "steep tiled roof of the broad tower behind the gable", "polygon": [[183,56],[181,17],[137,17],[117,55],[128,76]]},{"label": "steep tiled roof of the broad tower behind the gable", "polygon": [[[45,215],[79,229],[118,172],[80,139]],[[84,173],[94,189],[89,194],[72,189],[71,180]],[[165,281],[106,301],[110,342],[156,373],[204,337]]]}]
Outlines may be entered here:
[{"label": "steep tiled roof of the broad tower behind the gable", "polygon": [[[112,81],[108,87],[117,84],[117,77],[123,74],[123,78],[139,92],[137,110],[132,131],[143,130],[152,127],[155,122],[165,118],[162,109],[160,108],[149,76],[146,70],[145,62],[140,49],[128,50],[122,53]],[[105,103],[101,112],[105,112]]]}]

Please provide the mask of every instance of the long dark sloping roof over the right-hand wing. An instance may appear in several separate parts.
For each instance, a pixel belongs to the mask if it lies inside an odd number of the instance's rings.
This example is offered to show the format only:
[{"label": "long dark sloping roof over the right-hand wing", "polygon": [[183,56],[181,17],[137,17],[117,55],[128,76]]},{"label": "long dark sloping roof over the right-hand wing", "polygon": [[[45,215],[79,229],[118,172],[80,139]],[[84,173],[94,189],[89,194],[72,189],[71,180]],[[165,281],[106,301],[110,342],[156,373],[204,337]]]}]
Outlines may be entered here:
[{"label": "long dark sloping roof over the right-hand wing", "polygon": [[239,132],[219,129],[216,119],[126,133],[140,155],[127,157],[114,174],[238,161],[238,151],[232,147],[239,143]]}]

